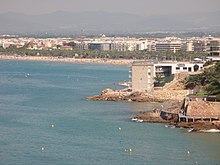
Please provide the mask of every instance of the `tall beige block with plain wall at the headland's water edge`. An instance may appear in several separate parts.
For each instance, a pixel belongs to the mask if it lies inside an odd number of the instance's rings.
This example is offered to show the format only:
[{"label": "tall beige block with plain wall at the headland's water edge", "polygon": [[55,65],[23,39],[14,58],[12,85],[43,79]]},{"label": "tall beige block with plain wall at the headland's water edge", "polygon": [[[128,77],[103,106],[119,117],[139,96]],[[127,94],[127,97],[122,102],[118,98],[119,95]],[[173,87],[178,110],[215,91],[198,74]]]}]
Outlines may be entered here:
[{"label": "tall beige block with plain wall at the headland's water edge", "polygon": [[154,87],[154,65],[150,62],[133,63],[132,92],[151,92]]}]

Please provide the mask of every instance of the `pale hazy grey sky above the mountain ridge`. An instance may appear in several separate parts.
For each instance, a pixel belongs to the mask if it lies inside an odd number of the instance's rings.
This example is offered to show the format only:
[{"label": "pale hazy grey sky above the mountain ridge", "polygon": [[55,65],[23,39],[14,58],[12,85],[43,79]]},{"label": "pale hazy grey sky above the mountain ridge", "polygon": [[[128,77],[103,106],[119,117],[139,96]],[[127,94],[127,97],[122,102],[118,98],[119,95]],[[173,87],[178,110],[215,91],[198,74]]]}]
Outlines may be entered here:
[{"label": "pale hazy grey sky above the mountain ridge", "polygon": [[108,11],[139,15],[220,10],[220,0],[0,0],[0,12]]}]

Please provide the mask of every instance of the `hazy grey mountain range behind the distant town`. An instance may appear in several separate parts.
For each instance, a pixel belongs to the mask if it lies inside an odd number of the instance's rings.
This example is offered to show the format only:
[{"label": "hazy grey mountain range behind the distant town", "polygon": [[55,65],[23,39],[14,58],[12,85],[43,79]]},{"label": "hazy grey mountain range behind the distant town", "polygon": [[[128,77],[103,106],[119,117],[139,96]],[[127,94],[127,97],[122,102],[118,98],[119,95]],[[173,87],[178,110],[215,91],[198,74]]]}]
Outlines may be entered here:
[{"label": "hazy grey mountain range behind the distant town", "polygon": [[122,12],[53,12],[0,14],[3,33],[132,33],[143,31],[217,31],[220,11],[143,17]]}]

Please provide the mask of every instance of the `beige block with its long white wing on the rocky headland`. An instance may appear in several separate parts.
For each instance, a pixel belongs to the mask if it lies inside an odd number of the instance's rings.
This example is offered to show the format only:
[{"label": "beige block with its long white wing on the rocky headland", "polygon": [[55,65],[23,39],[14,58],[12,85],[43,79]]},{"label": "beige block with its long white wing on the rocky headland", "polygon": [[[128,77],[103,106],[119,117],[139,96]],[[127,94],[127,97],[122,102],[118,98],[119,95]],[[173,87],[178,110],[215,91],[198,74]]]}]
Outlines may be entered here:
[{"label": "beige block with its long white wing on the rocky headland", "polygon": [[151,92],[154,87],[154,77],[171,76],[176,73],[196,72],[203,63],[189,62],[135,62],[131,66],[132,92]]}]

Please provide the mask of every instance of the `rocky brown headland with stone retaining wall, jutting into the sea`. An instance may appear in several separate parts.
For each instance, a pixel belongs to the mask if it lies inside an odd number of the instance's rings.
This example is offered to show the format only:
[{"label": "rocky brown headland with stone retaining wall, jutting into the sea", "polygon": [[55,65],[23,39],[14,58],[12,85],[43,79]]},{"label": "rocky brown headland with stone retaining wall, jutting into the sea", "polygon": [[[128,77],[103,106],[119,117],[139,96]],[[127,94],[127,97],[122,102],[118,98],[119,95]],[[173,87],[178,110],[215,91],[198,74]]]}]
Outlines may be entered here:
[{"label": "rocky brown headland with stone retaining wall, jutting into the sea", "polygon": [[[218,64],[219,65],[219,64]],[[214,65],[203,68],[211,69]],[[218,66],[215,67],[217,69]],[[193,73],[200,75],[202,71]],[[217,73],[219,74],[219,72]],[[216,74],[215,74],[216,75]],[[161,108],[140,112],[132,117],[135,122],[169,123],[168,127],[188,128],[191,131],[220,132],[220,102],[216,96],[195,95],[193,90],[184,86],[185,78],[189,74],[177,74],[173,81],[163,87],[154,87],[151,92],[132,92],[132,88],[123,90],[105,89],[97,96],[90,96],[90,100],[100,101],[129,101],[129,102],[160,102]]]}]

